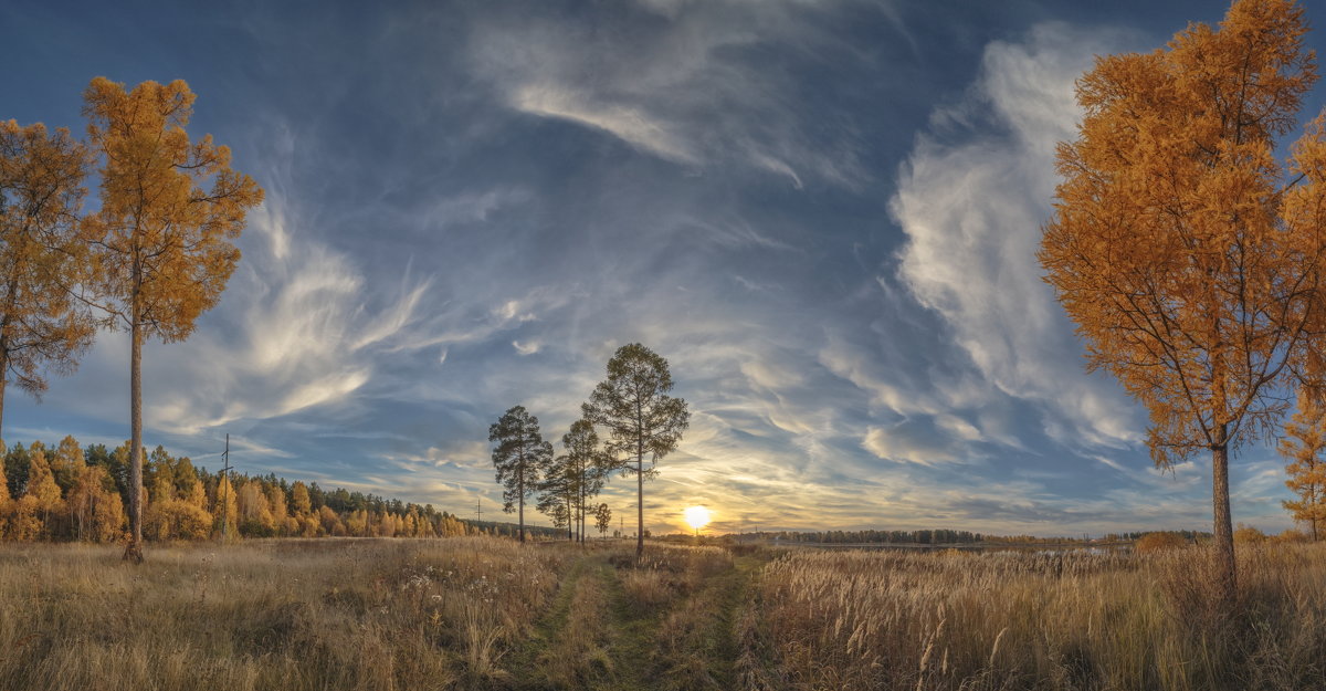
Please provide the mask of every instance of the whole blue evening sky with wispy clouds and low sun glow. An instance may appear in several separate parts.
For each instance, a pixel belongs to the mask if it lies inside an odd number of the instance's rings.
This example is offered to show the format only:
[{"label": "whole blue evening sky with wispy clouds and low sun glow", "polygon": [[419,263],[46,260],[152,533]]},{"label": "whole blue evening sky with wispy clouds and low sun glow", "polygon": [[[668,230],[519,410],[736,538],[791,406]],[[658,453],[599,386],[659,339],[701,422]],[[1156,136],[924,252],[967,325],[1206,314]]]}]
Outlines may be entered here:
[{"label": "whole blue evening sky with wispy clouds and low sun glow", "polygon": [[[1209,459],[1152,466],[1034,251],[1074,80],[1227,7],[7,0],[0,118],[183,78],[265,190],[220,304],[143,353],[145,442],[199,466],[229,434],[244,472],[496,516],[488,426],[560,442],[642,342],[691,411],[652,531],[1209,529]],[[4,412],[122,443],[127,336]],[[1231,472],[1236,521],[1290,525],[1273,447]]]}]

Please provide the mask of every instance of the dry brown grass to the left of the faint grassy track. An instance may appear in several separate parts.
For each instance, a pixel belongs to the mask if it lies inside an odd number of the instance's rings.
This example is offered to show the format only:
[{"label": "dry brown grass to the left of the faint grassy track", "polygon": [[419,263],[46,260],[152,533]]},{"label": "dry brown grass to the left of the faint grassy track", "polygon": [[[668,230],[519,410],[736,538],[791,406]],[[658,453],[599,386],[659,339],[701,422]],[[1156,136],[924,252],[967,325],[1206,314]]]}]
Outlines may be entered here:
[{"label": "dry brown grass to the left of the faint grassy track", "polygon": [[0,688],[479,686],[556,589],[509,540],[0,548]]}]

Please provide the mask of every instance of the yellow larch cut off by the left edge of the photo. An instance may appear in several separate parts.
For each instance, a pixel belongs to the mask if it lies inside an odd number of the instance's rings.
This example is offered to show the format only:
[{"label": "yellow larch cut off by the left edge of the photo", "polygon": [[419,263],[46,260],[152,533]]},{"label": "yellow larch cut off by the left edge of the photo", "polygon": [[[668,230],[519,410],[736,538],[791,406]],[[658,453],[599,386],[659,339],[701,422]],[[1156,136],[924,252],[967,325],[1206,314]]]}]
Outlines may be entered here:
[{"label": "yellow larch cut off by the left edge of the photo", "polygon": [[0,422],[11,379],[40,398],[45,373],[73,371],[95,334],[76,297],[88,267],[88,167],[69,130],[0,122]]}]

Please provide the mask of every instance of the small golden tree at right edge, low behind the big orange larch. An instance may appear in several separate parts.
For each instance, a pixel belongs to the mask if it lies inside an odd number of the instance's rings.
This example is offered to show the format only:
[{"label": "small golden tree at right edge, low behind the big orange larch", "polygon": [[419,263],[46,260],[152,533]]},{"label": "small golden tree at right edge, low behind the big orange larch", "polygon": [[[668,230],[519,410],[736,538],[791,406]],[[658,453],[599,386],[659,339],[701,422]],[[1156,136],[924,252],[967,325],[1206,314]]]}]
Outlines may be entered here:
[{"label": "small golden tree at right edge, low behind the big orange larch", "polygon": [[1285,423],[1285,438],[1280,440],[1280,454],[1289,459],[1285,467],[1285,485],[1298,495],[1294,501],[1284,501],[1285,509],[1297,521],[1311,528],[1313,541],[1318,528],[1326,521],[1326,405],[1307,393],[1298,395],[1298,411]]}]

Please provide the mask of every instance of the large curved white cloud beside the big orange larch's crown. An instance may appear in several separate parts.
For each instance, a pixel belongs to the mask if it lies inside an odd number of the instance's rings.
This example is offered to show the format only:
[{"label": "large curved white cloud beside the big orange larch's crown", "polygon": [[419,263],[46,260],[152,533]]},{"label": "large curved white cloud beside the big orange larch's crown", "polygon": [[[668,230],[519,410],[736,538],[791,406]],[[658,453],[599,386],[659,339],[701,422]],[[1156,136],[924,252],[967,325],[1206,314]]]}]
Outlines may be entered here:
[{"label": "large curved white cloud beside the big orange larch's crown", "polygon": [[1123,41],[1048,24],[1025,42],[991,44],[976,85],[936,118],[949,123],[941,130],[969,127],[920,135],[891,204],[907,233],[899,277],[916,300],[944,317],[989,383],[1044,403],[1052,435],[1086,444],[1138,442],[1136,407],[1085,374],[1036,248],[1057,182],[1054,145],[1079,117],[1074,80]]}]

